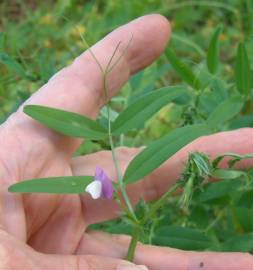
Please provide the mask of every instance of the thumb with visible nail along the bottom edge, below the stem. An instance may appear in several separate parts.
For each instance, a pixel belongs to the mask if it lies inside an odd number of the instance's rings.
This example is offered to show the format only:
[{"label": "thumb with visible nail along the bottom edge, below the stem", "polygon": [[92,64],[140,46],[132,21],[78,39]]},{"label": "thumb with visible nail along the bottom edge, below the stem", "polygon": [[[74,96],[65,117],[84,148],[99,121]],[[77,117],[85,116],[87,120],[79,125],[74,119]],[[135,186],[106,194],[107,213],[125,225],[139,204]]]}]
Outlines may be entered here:
[{"label": "thumb with visible nail along the bottom edge, below the stem", "polygon": [[[43,265],[48,262],[47,269],[54,270],[148,270],[144,265],[136,265],[121,259],[94,255],[44,255]],[[45,269],[45,268],[43,268]]]}]

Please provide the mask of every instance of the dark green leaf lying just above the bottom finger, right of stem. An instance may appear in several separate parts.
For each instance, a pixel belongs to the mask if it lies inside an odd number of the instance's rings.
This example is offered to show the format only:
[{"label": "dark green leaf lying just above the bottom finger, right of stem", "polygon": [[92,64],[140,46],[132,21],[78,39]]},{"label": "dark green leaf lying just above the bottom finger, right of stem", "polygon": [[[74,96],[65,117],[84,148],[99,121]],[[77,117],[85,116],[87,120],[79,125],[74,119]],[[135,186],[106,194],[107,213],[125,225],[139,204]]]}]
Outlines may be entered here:
[{"label": "dark green leaf lying just above the bottom finger, right of stem", "polygon": [[184,250],[203,250],[213,243],[211,238],[197,229],[163,226],[155,231],[153,244]]}]

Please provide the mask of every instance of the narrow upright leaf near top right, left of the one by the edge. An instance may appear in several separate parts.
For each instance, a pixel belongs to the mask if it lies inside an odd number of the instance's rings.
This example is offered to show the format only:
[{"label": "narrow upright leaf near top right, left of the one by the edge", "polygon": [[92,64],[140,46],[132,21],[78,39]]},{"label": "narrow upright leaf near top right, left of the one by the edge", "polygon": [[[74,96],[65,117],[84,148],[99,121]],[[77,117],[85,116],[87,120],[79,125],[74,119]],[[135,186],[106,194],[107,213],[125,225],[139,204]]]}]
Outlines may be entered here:
[{"label": "narrow upright leaf near top right, left of the one by the edge", "polygon": [[219,35],[222,28],[218,27],[211,38],[207,51],[207,68],[210,73],[215,74],[219,64]]}]

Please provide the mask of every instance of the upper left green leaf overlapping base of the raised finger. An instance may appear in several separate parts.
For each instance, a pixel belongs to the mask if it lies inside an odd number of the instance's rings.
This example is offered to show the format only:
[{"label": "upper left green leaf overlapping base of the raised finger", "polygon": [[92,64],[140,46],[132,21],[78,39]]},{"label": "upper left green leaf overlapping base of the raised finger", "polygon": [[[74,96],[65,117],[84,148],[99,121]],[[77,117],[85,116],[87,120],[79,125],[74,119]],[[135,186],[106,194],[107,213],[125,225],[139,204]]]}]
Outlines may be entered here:
[{"label": "upper left green leaf overlapping base of the raised finger", "polygon": [[83,115],[38,105],[27,105],[24,112],[43,125],[64,135],[78,138],[104,139],[106,130]]}]

